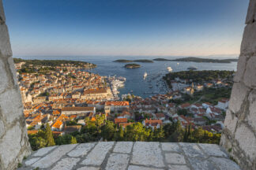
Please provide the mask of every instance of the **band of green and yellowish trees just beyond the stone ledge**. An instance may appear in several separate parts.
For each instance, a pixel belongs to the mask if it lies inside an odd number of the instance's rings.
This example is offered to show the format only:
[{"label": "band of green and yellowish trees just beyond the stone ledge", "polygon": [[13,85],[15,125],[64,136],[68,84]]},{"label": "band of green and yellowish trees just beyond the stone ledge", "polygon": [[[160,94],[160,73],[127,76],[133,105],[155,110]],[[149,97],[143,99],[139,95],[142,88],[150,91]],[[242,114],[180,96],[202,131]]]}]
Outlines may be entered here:
[{"label": "band of green and yellowish trees just beyond the stone ledge", "polygon": [[[104,141],[207,142],[216,144],[220,142],[220,134],[204,131],[201,127],[194,130],[191,126],[183,128],[179,121],[153,130],[144,127],[140,122],[119,127],[112,121],[106,120],[105,116],[96,116],[95,121],[86,118],[85,122],[86,125],[82,127],[81,132],[55,137],[55,144],[96,142],[100,139],[104,139]],[[54,144],[52,138],[49,137],[50,131],[51,129],[47,125],[46,129],[38,131],[36,135],[28,135],[32,150],[49,146],[50,143],[51,146]]]}]

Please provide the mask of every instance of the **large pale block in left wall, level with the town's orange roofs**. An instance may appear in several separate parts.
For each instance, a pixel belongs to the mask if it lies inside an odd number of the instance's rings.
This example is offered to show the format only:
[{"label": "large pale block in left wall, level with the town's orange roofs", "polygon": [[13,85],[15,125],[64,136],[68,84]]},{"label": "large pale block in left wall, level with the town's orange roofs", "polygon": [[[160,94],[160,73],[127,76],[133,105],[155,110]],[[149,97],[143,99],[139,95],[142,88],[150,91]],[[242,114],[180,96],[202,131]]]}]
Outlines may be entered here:
[{"label": "large pale block in left wall, level with the town's orange roofs", "polygon": [[23,115],[23,105],[21,94],[17,89],[5,91],[0,94],[0,109],[2,115],[6,117],[7,124]]}]

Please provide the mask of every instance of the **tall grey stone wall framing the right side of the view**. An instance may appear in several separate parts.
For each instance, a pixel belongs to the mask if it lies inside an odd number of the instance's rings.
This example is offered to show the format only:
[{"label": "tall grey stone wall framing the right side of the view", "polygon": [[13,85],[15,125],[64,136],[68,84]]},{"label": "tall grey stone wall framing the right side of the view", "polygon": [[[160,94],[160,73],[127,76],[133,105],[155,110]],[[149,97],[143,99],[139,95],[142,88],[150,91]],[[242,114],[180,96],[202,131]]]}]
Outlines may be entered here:
[{"label": "tall grey stone wall framing the right side of the view", "polygon": [[256,169],[256,0],[250,0],[241,54],[220,145],[243,169]]}]

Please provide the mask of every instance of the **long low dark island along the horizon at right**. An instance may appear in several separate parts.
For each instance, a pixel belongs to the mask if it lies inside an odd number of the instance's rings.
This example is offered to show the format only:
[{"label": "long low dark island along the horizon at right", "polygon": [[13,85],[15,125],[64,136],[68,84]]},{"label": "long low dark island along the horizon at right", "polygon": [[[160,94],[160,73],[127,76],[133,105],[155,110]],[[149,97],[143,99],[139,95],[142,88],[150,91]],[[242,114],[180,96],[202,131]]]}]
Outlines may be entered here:
[{"label": "long low dark island along the horizon at right", "polygon": [[155,58],[153,61],[185,61],[185,62],[209,62],[209,63],[231,63],[233,61],[238,61],[238,59],[210,59],[210,58],[200,58],[200,57],[183,57],[175,60],[169,60],[166,58]]}]

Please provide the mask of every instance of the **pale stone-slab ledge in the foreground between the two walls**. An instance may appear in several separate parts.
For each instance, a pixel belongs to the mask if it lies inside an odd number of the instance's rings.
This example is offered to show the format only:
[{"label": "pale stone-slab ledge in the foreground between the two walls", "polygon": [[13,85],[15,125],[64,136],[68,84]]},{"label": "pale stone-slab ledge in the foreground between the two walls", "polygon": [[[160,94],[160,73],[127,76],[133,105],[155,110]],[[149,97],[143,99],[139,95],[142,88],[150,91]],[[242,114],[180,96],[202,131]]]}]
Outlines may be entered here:
[{"label": "pale stone-slab ledge in the foreground between the two walls", "polygon": [[237,170],[217,145],[170,142],[94,142],[33,152],[20,170]]}]

